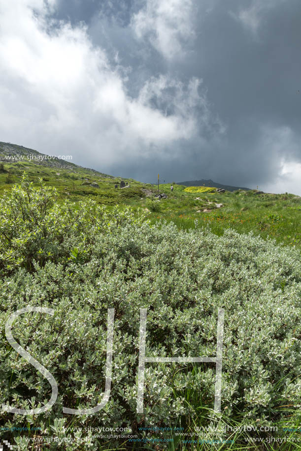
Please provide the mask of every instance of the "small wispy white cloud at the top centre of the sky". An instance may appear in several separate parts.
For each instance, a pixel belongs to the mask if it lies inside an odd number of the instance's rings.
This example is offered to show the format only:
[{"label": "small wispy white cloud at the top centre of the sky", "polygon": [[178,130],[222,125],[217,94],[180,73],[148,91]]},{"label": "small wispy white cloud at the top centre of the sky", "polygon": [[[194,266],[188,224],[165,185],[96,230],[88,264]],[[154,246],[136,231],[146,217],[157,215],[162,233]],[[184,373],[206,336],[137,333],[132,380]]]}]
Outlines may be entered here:
[{"label": "small wispy white cloud at the top centre of the sky", "polygon": [[193,0],[146,0],[132,18],[138,38],[147,37],[168,60],[180,58],[195,38]]}]

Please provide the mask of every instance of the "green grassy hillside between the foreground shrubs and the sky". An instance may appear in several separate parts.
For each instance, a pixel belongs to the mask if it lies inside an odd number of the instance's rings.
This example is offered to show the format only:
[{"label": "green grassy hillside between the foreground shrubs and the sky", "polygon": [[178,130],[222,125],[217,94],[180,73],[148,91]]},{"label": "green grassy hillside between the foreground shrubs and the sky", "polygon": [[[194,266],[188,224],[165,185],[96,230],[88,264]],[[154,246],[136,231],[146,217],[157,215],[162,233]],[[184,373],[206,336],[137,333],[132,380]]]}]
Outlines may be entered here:
[{"label": "green grassy hillside between the foreground shrubs and the sky", "polygon": [[[59,159],[42,162],[6,159],[11,154],[25,155],[26,158],[34,152],[37,156],[42,155],[35,150],[0,143],[0,165],[3,164],[2,170],[0,166],[0,196],[14,183],[19,183],[26,171],[34,185],[39,185],[39,179],[43,179],[46,186],[55,187],[60,203],[65,199],[75,203],[94,199],[97,204],[110,208],[127,205],[136,212],[143,212],[153,223],[164,219],[173,221],[184,230],[209,227],[218,236],[229,228],[239,233],[253,231],[255,235],[270,237],[277,243],[301,247],[301,197],[294,194],[260,193],[256,190],[191,193],[185,191],[184,185],[178,184],[173,185],[171,193],[170,184],[160,184],[159,191],[165,192],[167,199],[159,201],[155,198],[158,192],[155,185],[112,177]],[[130,187],[120,189],[121,180]],[[219,204],[222,206],[217,208]]]}]

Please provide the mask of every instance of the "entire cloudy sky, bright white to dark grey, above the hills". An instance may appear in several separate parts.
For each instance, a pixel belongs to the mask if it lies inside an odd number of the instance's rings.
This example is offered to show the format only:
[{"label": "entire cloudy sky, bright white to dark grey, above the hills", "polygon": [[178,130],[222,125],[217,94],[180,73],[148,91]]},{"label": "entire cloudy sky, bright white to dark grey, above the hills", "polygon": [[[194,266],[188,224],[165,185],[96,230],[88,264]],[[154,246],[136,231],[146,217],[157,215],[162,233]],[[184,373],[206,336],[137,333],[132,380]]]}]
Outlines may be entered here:
[{"label": "entire cloudy sky, bright white to dark grey, above the hills", "polygon": [[0,141],[301,194],[300,0],[0,0]]}]

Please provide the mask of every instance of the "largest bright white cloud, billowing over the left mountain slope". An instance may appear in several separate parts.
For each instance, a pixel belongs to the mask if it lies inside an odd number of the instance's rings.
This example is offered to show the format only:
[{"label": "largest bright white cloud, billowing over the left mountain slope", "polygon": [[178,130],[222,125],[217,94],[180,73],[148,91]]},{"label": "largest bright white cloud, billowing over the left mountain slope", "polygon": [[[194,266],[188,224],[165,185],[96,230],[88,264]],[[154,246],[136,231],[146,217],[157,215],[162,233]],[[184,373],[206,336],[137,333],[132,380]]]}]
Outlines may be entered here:
[{"label": "largest bright white cloud, billowing over the left mountain slope", "polygon": [[[185,86],[168,76],[152,78],[132,98],[125,71],[93,47],[86,28],[54,24],[49,7],[55,1],[0,0],[2,141],[51,154],[72,150],[73,161],[84,152],[85,164],[95,167],[128,153],[156,155],[196,135],[199,122],[210,127],[199,80]],[[186,33],[184,25],[180,30]]]}]

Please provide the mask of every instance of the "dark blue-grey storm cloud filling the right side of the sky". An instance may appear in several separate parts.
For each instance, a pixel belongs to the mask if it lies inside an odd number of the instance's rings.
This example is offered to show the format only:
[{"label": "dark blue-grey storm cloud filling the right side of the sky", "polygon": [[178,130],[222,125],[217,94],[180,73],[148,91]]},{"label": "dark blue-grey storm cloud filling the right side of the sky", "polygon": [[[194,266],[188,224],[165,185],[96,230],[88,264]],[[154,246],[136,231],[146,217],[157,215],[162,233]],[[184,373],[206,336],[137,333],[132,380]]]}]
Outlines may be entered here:
[{"label": "dark blue-grey storm cloud filling the right side of the sky", "polygon": [[[108,171],[151,181],[160,168],[167,180],[211,177],[256,186],[275,179],[282,158],[300,161],[295,140],[301,124],[301,95],[297,93],[301,89],[301,5],[297,0],[268,4],[258,12],[256,30],[237,19],[239,11],[250,5],[250,1],[219,1],[210,12],[200,8],[194,52],[168,63],[151,46],[146,50],[148,58],[139,58],[132,30],[112,22],[111,15],[102,18],[103,28],[98,30],[100,22],[94,16],[94,42],[113,43],[123,63],[139,69],[129,78],[133,93],[149,73],[176,73],[183,80],[200,77],[213,111],[227,125],[218,145],[207,143],[204,149],[197,142],[181,143],[180,155],[174,160],[172,155],[168,161],[155,162],[130,158]],[[99,17],[98,8],[95,13]],[[279,146],[283,127],[291,133]]]}]

